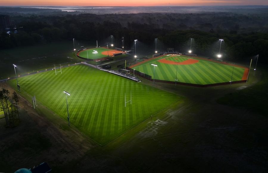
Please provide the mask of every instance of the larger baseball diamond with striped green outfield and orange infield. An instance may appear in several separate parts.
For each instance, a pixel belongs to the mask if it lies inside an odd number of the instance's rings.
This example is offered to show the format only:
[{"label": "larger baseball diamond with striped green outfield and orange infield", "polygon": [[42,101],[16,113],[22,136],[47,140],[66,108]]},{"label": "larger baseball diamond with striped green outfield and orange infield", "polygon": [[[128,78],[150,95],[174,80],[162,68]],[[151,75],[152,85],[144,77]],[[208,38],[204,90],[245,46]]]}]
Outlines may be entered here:
[{"label": "larger baseball diamond with striped green outfield and orange infield", "polygon": [[201,85],[229,82],[231,78],[232,81],[246,80],[248,72],[246,67],[176,54],[151,58],[130,68],[148,74],[153,79],[154,67],[151,64],[158,65],[155,67],[155,79],[175,81],[177,71],[177,82]]}]

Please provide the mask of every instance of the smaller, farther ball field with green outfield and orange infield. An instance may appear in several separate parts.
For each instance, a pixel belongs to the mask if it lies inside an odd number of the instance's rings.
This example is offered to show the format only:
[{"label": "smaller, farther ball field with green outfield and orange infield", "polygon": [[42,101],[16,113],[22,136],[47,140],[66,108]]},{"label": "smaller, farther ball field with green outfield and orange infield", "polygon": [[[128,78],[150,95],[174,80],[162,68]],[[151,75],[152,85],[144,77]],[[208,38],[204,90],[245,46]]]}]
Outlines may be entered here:
[{"label": "smaller, farther ball field with green outfield and orange infield", "polygon": [[[94,53],[94,50],[96,50],[98,53]],[[98,47],[98,48],[91,48],[82,50],[77,53],[78,56],[82,58],[88,58],[88,59],[100,59],[107,57],[108,53],[109,56],[112,56],[114,53],[121,53],[122,51],[119,50],[113,50],[113,49],[106,49],[104,47]]]}]

